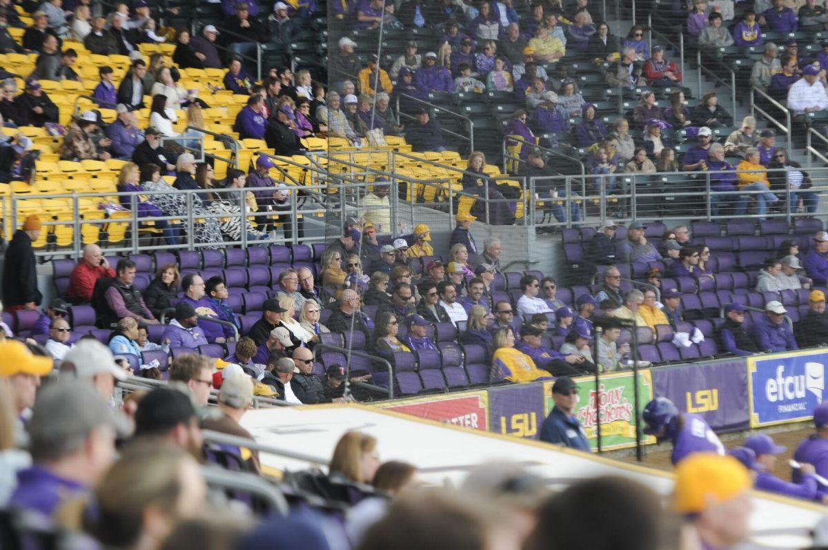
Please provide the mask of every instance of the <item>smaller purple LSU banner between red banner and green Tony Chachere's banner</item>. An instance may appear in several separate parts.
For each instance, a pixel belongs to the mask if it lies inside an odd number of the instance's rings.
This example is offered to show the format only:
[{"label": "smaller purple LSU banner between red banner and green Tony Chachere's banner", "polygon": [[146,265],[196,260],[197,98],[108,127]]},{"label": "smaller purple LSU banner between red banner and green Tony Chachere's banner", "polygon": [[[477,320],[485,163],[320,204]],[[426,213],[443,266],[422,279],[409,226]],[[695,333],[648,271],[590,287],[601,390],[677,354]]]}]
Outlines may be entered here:
[{"label": "smaller purple LSU banner between red banner and green Tony Chachere's banner", "polygon": [[537,439],[543,414],[543,385],[515,384],[489,389],[491,431],[507,436]]}]

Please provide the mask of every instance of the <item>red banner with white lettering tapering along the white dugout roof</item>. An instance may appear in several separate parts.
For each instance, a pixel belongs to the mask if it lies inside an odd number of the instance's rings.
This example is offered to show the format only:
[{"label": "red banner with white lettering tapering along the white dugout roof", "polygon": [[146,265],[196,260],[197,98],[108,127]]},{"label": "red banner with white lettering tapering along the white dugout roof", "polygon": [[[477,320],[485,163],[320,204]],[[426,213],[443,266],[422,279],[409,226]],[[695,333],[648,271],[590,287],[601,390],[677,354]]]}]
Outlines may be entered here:
[{"label": "red banner with white lettering tapering along the white dugout roof", "polygon": [[455,426],[489,431],[489,406],[486,392],[451,393],[430,398],[405,399],[382,403],[380,408],[415,417],[437,420]]}]

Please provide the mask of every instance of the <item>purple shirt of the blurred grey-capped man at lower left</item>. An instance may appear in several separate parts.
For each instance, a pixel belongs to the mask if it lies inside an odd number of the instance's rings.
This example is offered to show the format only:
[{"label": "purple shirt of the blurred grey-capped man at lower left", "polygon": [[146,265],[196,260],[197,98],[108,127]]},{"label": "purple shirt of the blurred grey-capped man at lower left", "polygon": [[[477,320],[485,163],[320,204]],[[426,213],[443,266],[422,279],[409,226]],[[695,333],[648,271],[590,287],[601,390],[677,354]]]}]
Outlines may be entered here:
[{"label": "purple shirt of the blurred grey-capped man at lower left", "polygon": [[[67,499],[87,490],[76,481],[65,480],[41,466],[17,472],[17,489],[8,505],[11,508],[39,512],[47,517]],[[75,495],[73,495],[75,494]]]}]

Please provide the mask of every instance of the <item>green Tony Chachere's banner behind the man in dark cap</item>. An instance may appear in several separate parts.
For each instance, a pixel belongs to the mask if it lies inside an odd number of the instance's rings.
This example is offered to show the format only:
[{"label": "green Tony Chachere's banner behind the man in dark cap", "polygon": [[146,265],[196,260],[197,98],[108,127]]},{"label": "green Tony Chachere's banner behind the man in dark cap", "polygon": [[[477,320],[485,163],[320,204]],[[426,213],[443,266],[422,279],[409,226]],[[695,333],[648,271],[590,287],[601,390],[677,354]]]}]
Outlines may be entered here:
[{"label": "green Tony Chachere's banner behind the man in dark cap", "polygon": [[[552,382],[543,384],[545,396],[544,417],[549,414],[555,403],[552,400]],[[583,425],[590,446],[598,447],[598,422],[595,417],[595,403],[599,403],[601,419],[601,449],[624,449],[635,446],[635,422],[641,416],[644,406],[652,399],[652,379],[650,372],[644,370],[638,373],[638,415],[633,413],[633,373],[605,374],[601,376],[600,394],[595,393],[595,379],[592,377],[576,378],[578,385],[578,404],[575,406],[575,417]],[[655,442],[654,437],[642,434],[642,443]]]}]

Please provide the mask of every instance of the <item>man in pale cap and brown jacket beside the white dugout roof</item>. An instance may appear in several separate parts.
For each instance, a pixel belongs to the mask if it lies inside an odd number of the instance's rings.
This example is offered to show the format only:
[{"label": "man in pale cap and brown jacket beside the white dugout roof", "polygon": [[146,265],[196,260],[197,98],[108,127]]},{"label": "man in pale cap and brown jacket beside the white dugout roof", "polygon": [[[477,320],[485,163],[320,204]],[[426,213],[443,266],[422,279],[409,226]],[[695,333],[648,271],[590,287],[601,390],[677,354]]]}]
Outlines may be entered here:
[{"label": "man in pale cap and brown jacket beside the white dugout roof", "polygon": [[[225,367],[225,369],[228,368],[229,366]],[[243,373],[230,374],[221,383],[219,409],[211,411],[209,416],[201,422],[201,428],[255,441],[253,435],[240,424],[244,413],[247,413],[252,406],[253,379]],[[258,451],[250,450],[248,465],[253,471],[261,471]]]}]

